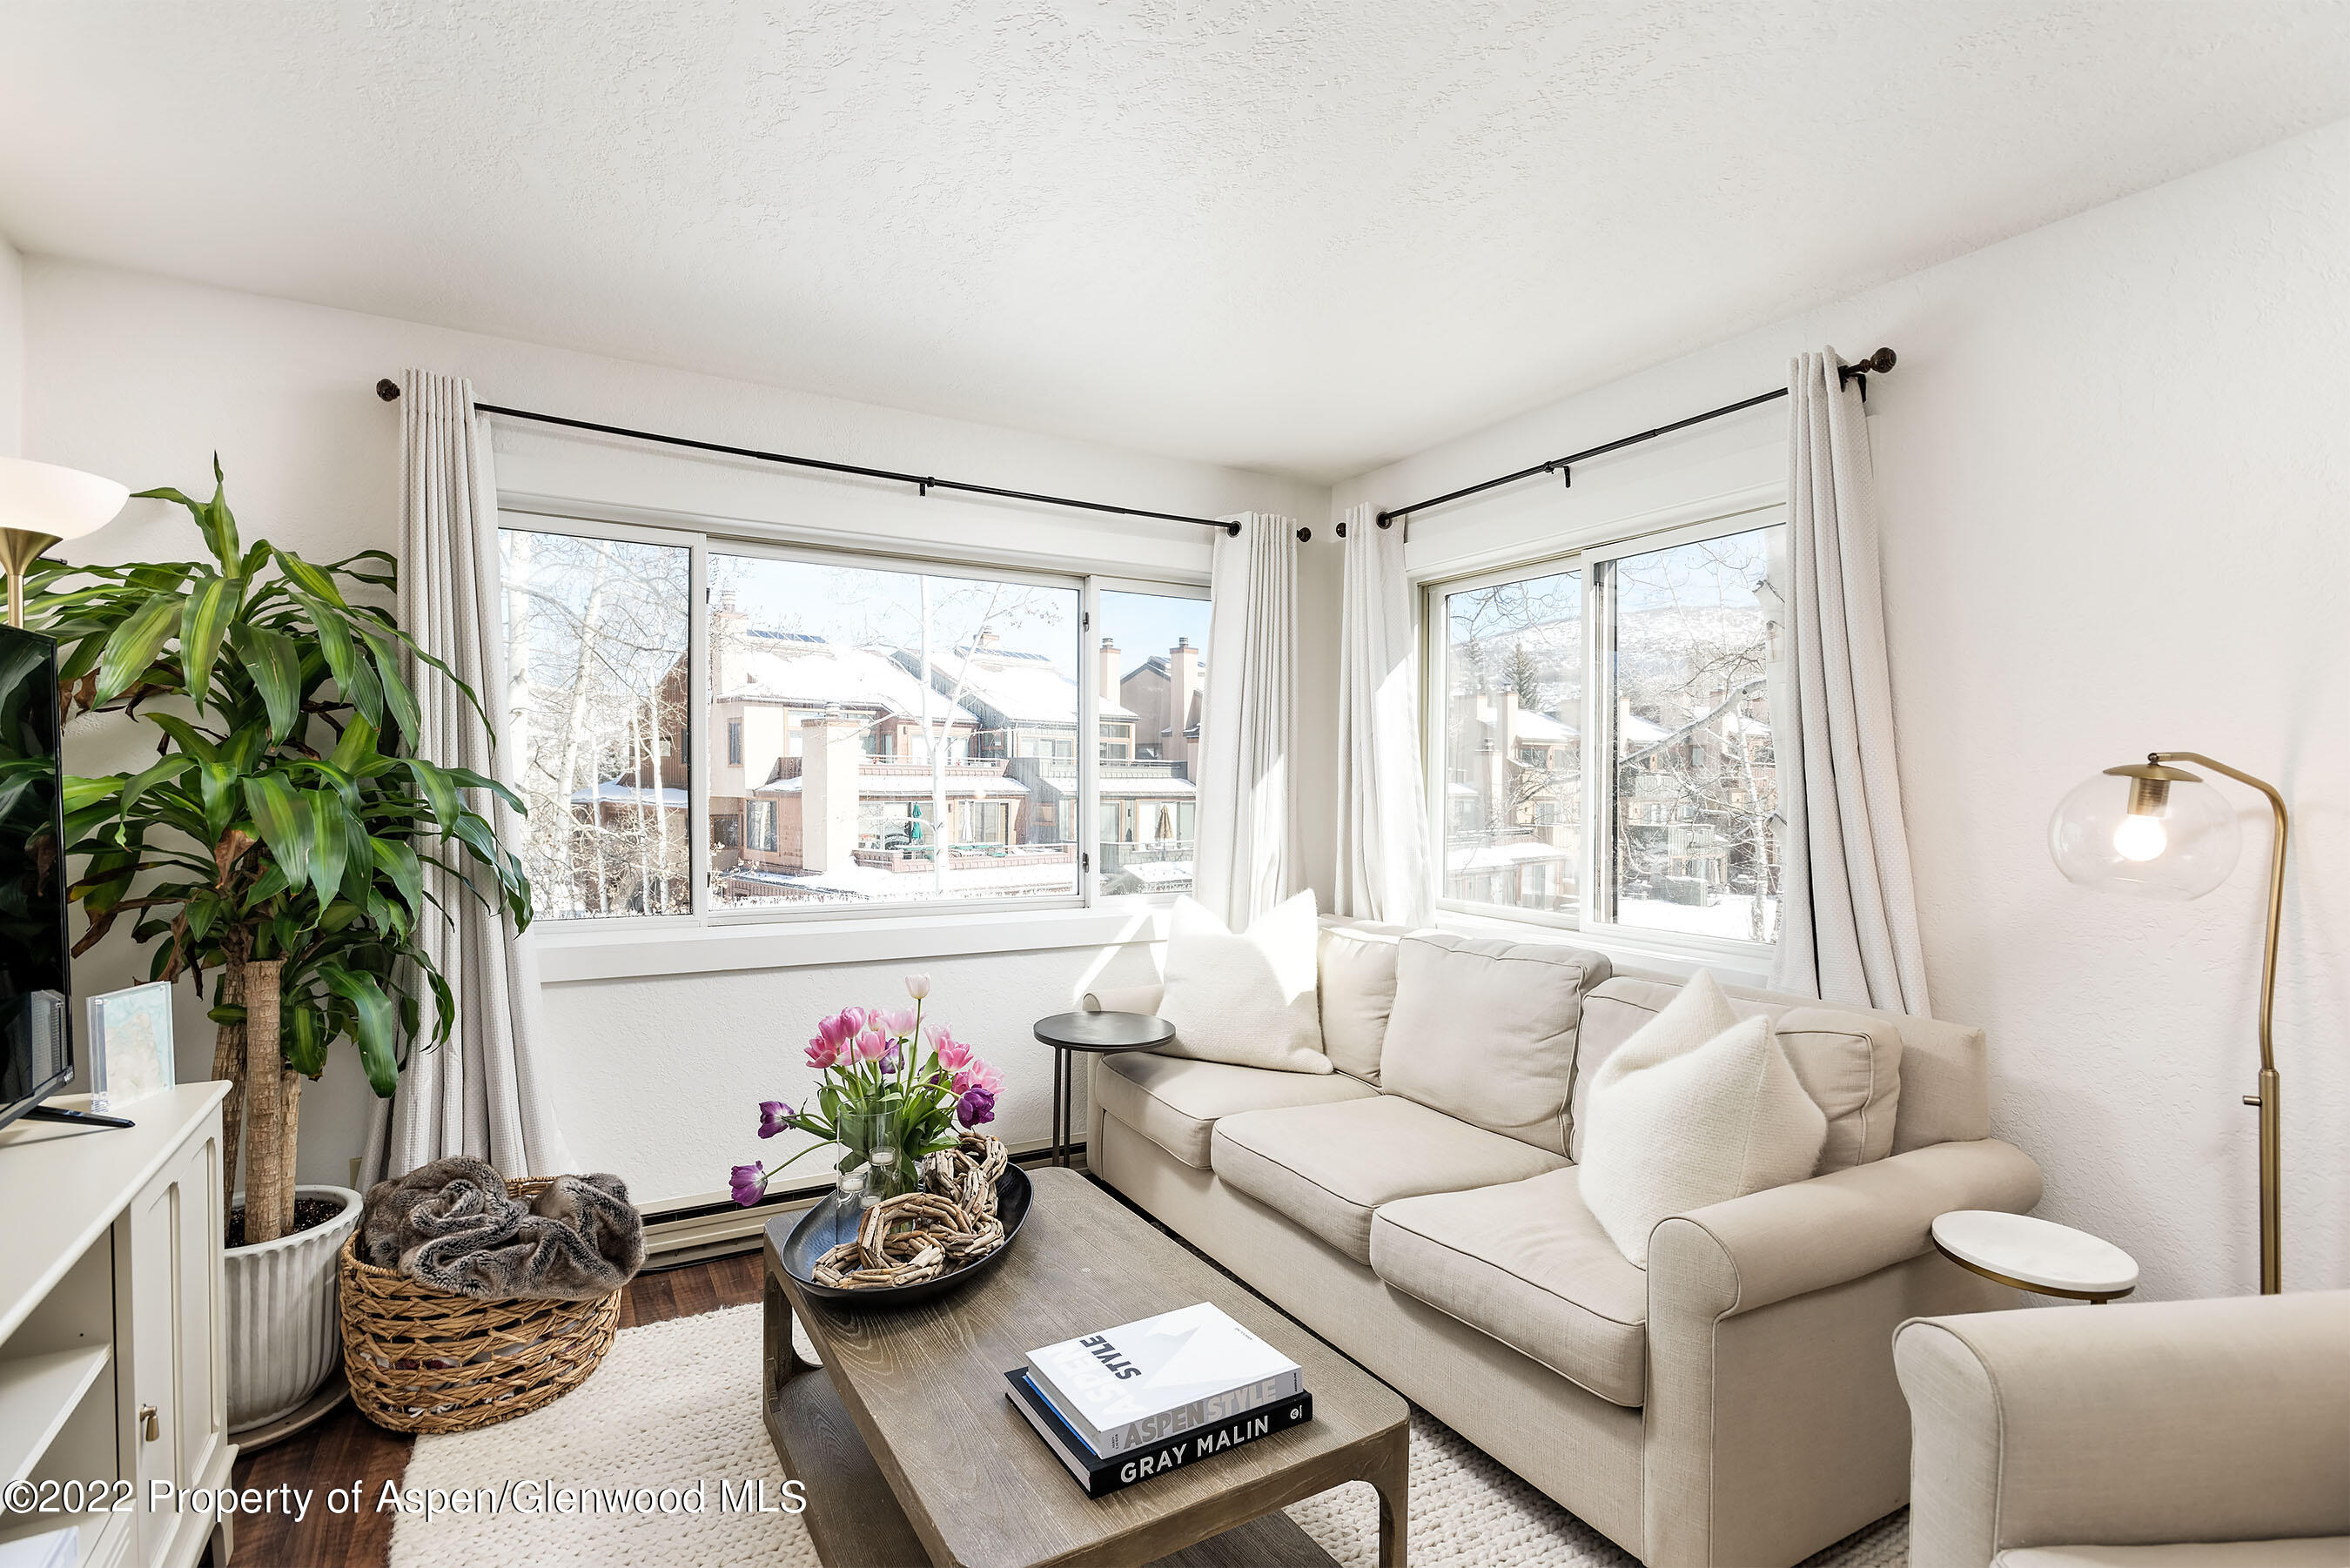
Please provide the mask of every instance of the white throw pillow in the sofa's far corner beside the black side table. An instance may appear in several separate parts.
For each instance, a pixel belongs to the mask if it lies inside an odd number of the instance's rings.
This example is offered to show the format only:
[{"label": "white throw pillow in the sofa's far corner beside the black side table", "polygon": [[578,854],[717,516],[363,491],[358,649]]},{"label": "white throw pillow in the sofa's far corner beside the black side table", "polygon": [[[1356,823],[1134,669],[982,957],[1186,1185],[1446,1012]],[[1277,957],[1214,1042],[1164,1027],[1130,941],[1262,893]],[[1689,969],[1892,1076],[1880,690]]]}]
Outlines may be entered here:
[{"label": "white throw pillow in the sofa's far corner beside the black side table", "polygon": [[1175,1025],[1166,1056],[1206,1063],[1330,1072],[1314,992],[1321,926],[1314,893],[1300,893],[1234,936],[1206,905],[1175,900],[1168,978],[1159,1016]]}]

